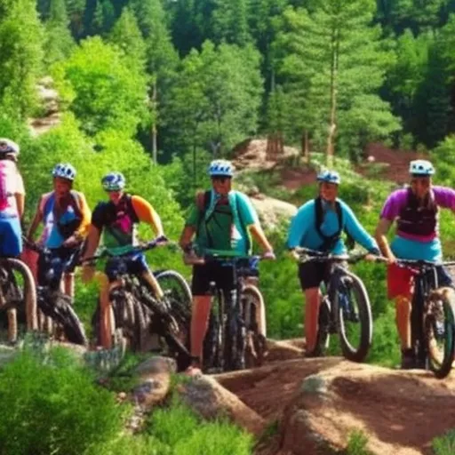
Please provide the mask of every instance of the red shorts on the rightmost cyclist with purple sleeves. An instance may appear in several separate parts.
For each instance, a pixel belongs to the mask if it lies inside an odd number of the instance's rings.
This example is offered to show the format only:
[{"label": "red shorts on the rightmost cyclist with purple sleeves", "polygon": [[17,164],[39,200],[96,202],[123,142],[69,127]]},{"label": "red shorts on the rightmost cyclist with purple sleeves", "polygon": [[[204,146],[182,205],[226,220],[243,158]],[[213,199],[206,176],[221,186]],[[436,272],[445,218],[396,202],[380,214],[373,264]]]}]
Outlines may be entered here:
[{"label": "red shorts on the rightmost cyclist with purple sleeves", "polygon": [[[440,286],[452,286],[451,275],[443,266],[437,266],[437,279]],[[403,296],[411,299],[415,272],[407,267],[389,264],[387,267],[387,295],[389,299]]]}]

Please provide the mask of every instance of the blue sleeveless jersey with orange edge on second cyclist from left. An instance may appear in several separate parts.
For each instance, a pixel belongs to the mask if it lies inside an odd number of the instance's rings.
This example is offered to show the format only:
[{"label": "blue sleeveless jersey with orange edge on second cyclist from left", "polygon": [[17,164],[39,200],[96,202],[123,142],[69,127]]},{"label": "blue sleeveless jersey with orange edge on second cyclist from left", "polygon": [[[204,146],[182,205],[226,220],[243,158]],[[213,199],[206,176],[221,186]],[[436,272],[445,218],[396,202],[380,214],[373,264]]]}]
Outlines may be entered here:
[{"label": "blue sleeveless jersey with orange edge on second cyclist from left", "polygon": [[38,206],[43,217],[44,230],[41,241],[47,248],[60,248],[65,240],[77,233],[85,236],[90,226],[91,212],[82,193],[71,191],[68,199],[55,204],[55,192],[41,196]]}]

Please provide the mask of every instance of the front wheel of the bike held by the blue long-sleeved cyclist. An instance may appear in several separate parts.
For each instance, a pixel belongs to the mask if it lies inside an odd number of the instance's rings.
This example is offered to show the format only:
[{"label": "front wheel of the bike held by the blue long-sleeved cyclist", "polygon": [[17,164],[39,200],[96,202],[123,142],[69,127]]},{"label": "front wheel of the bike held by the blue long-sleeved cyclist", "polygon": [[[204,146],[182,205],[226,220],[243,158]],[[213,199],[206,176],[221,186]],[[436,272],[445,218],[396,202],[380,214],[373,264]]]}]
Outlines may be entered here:
[{"label": "front wheel of the bike held by the blue long-sleeved cyclist", "polygon": [[362,280],[346,270],[339,277],[334,299],[343,355],[352,362],[363,362],[371,347],[373,323],[370,299]]}]

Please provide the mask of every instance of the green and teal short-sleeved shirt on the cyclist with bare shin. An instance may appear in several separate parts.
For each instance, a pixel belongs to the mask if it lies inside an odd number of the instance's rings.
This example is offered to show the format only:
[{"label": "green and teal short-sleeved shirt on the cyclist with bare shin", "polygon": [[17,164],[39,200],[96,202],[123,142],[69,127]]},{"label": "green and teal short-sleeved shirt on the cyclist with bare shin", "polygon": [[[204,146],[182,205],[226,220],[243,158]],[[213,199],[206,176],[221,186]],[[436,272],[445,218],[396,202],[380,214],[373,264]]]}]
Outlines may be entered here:
[{"label": "green and teal short-sleeved shirt on the cyclist with bare shin", "polygon": [[196,247],[200,253],[222,250],[243,255],[250,252],[247,228],[257,221],[258,215],[243,193],[231,191],[228,196],[221,197],[212,191],[207,211],[203,214],[194,204],[186,224],[197,229]]}]

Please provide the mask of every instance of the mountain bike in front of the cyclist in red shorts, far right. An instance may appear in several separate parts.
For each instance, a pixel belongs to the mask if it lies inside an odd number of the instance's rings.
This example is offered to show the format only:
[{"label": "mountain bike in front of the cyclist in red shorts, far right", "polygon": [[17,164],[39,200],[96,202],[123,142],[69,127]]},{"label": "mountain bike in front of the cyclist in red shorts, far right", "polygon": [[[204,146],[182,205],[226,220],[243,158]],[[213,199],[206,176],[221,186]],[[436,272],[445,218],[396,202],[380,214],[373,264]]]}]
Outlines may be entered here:
[{"label": "mountain bike in front of the cyclist in red shorts, far right", "polygon": [[455,291],[440,287],[438,266],[453,266],[455,262],[435,264],[426,260],[398,259],[397,265],[411,269],[414,293],[411,303],[411,348],[417,366],[429,369],[438,379],[451,372],[455,353]]}]

